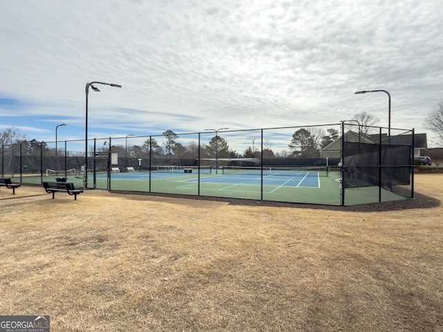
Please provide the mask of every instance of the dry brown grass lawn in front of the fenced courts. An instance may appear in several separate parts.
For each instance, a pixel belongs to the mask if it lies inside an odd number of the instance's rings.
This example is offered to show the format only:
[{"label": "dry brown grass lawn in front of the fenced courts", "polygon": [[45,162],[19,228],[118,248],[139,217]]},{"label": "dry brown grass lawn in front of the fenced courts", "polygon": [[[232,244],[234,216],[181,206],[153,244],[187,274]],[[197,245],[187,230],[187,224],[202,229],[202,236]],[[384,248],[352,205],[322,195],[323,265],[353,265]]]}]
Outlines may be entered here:
[{"label": "dry brown grass lawn in front of the fenced courts", "polygon": [[[415,180],[443,199],[443,174]],[[443,330],[442,207],[341,212],[88,191],[0,209],[0,313],[51,315],[54,332]]]}]

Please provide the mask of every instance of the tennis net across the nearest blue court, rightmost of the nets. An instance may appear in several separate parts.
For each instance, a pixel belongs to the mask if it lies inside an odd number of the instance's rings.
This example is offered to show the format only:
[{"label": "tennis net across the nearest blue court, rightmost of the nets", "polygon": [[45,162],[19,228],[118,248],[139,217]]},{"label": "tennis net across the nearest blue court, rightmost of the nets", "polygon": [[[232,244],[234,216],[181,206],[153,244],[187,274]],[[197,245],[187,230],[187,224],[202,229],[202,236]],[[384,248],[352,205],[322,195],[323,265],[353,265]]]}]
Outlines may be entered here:
[{"label": "tennis net across the nearest blue court, rightmost of the nets", "polygon": [[312,167],[239,167],[224,166],[222,174],[238,176],[329,176],[326,166]]}]

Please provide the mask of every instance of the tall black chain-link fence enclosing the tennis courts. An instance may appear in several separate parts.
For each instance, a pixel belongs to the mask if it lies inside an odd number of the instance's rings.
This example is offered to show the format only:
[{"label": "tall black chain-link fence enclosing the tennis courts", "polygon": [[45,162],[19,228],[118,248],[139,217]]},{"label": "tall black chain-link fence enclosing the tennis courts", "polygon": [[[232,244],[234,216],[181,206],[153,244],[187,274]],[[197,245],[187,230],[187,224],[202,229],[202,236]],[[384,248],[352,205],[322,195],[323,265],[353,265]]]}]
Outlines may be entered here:
[{"label": "tall black chain-link fence enclosing the tennis courts", "polygon": [[[355,121],[356,122],[356,121]],[[356,205],[413,198],[414,133],[338,124],[1,146],[1,176],[88,189]],[[83,148],[83,149],[82,149]]]}]

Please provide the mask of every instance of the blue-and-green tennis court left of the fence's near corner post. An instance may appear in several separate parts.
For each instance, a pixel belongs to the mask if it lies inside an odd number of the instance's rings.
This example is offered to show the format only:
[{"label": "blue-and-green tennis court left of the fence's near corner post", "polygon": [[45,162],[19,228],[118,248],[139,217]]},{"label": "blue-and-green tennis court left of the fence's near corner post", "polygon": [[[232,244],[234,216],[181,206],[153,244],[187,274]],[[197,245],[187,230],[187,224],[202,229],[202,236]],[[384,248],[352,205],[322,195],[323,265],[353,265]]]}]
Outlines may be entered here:
[{"label": "blue-and-green tennis court left of the fence's near corner post", "polygon": [[[215,196],[265,201],[340,204],[340,185],[334,181],[339,172],[326,167],[223,167],[204,169],[194,167],[185,173],[183,167],[151,169],[151,172],[111,174],[112,190],[159,192],[196,196]],[[107,183],[107,174],[97,174],[97,187]]]}]

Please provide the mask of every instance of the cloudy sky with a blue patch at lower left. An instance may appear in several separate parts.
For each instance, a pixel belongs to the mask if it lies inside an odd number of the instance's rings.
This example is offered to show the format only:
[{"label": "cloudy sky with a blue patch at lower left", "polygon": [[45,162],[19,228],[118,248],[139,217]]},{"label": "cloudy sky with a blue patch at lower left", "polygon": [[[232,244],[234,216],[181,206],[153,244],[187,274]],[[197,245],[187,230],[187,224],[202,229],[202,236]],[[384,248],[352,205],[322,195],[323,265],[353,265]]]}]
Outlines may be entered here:
[{"label": "cloudy sky with a blue patch at lower left", "polygon": [[[21,0],[0,6],[0,129],[29,139],[338,123],[426,132],[442,0]],[[428,138],[433,139],[431,133]],[[432,145],[432,142],[429,142]]]}]

